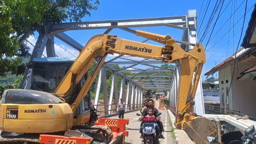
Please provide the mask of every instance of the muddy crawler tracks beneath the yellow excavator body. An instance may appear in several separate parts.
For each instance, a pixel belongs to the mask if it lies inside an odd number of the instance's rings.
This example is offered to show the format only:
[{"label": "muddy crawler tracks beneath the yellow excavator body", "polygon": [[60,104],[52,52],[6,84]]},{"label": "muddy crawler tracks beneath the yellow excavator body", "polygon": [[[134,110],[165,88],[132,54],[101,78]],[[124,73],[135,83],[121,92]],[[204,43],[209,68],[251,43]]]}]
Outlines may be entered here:
[{"label": "muddy crawler tracks beneath the yellow excavator body", "polygon": [[[79,130],[82,133],[90,135],[93,138],[92,144],[109,143],[113,138],[112,130],[108,126],[75,126],[73,130]],[[64,133],[51,133],[53,135],[64,135]],[[0,143],[5,144],[35,144],[39,143],[40,134],[19,134],[15,135],[8,132],[2,132]]]}]

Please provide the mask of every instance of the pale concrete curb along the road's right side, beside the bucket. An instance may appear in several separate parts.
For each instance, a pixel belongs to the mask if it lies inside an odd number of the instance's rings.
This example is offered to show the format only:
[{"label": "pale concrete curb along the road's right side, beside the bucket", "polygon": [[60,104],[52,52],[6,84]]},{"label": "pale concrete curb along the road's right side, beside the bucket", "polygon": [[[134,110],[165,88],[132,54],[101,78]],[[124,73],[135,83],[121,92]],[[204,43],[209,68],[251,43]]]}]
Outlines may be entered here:
[{"label": "pale concrete curb along the road's right side, beside the bucket", "polygon": [[176,143],[194,144],[193,141],[188,137],[187,133],[184,132],[184,130],[177,129],[175,127],[175,116],[172,114],[170,109],[168,109],[167,112],[172,122],[172,128],[174,128]]}]

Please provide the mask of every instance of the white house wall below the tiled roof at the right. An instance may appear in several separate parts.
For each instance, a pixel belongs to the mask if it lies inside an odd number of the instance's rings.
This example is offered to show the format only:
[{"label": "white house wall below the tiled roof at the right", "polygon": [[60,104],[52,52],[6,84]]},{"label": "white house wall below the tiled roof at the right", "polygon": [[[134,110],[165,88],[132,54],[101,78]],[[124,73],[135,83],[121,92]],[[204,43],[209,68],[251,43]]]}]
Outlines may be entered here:
[{"label": "white house wall below the tiled roof at the right", "polygon": [[[256,117],[256,81],[246,79],[237,81],[240,73],[255,63],[241,62],[237,63],[234,69],[234,77],[232,87],[229,92],[229,108],[240,111],[243,114]],[[226,100],[226,87],[230,87],[231,77],[233,73],[233,65],[226,66],[225,69],[218,71],[220,83],[220,106],[228,101]],[[228,83],[226,81],[228,80]],[[223,82],[223,83],[222,83]],[[224,99],[222,99],[222,88],[224,88]]]}]

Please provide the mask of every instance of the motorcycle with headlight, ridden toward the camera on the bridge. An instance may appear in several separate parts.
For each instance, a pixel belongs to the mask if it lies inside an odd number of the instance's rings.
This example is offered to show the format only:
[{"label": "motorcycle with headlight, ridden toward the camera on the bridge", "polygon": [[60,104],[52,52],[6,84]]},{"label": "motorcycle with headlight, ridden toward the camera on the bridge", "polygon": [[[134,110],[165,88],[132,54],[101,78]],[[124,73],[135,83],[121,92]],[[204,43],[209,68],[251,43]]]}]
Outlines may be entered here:
[{"label": "motorcycle with headlight, ridden toward the camera on the bridge", "polygon": [[[139,113],[136,114],[137,116],[141,116]],[[159,112],[156,116],[162,115]],[[144,144],[156,144],[159,143],[158,137],[156,135],[156,126],[158,124],[155,122],[155,117],[143,117],[143,125],[142,125],[142,133],[143,133],[143,143]]]}]

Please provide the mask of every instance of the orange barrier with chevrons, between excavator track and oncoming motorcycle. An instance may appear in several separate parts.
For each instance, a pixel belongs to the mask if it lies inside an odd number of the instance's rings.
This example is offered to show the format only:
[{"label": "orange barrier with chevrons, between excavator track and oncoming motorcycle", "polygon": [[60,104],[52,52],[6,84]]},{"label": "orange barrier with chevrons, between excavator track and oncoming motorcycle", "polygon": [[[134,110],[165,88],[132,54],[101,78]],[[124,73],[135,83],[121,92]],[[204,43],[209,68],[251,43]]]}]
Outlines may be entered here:
[{"label": "orange barrier with chevrons, between excavator track and oncoming motorcycle", "polygon": [[125,125],[129,124],[128,119],[114,119],[114,118],[98,118],[94,125],[105,125],[108,126],[113,132],[113,138],[117,137],[123,132],[123,138],[128,136],[128,131],[125,131]]}]

